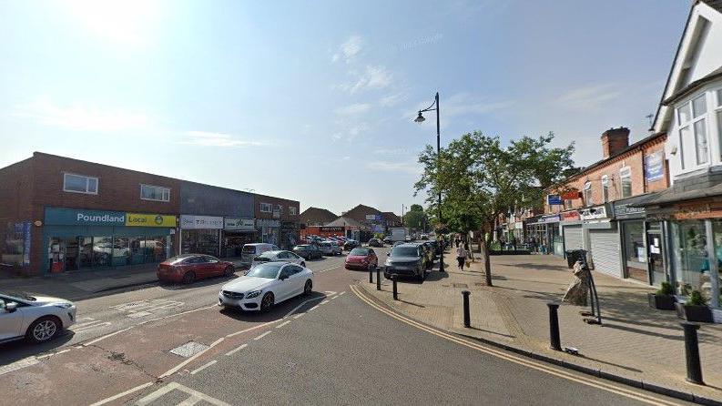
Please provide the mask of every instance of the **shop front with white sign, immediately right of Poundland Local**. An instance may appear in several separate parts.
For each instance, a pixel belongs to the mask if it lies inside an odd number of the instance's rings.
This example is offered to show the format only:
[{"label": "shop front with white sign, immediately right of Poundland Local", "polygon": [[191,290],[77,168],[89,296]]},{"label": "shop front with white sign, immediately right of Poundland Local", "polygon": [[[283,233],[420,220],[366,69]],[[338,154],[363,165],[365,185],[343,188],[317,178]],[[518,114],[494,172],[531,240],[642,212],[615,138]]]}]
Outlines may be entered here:
[{"label": "shop front with white sign, immediately right of Poundland Local", "polygon": [[222,229],[222,217],[181,215],[180,252],[182,254],[206,254],[218,257]]}]

